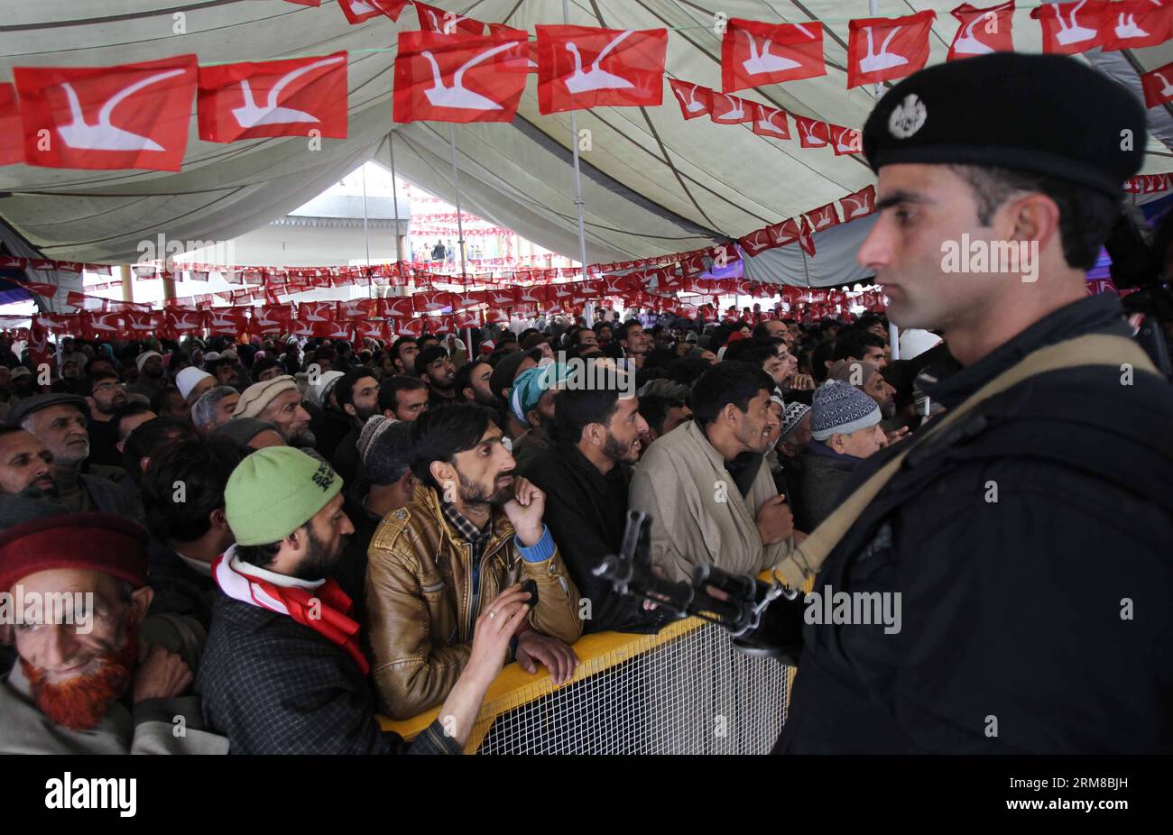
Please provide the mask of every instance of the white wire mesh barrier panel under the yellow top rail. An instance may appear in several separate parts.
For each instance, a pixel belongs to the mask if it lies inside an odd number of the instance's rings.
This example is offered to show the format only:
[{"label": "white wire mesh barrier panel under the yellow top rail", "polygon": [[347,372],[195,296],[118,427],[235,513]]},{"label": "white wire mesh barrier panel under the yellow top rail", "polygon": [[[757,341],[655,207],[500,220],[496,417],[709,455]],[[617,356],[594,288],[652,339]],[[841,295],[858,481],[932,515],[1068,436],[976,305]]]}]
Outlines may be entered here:
[{"label": "white wire mesh barrier panel under the yellow top rail", "polygon": [[786,697],[787,667],[690,620],[584,660],[561,688],[486,704],[474,740],[482,754],[765,754]]}]

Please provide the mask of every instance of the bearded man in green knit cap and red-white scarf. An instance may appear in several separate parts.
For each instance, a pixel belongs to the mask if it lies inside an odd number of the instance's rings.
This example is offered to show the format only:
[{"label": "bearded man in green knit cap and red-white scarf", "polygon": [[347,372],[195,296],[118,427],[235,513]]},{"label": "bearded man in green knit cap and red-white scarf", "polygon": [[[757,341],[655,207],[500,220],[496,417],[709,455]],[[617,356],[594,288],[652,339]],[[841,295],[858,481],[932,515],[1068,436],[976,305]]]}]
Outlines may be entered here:
[{"label": "bearded man in green knit cap and red-white scarf", "polygon": [[409,746],[384,733],[351,598],[331,577],[354,532],[341,490],[330,464],[292,447],[233,470],[224,498],[236,544],[212,565],[219,593],[196,679],[204,715],[242,754],[460,753],[528,596],[514,586],[493,602],[430,726]]}]

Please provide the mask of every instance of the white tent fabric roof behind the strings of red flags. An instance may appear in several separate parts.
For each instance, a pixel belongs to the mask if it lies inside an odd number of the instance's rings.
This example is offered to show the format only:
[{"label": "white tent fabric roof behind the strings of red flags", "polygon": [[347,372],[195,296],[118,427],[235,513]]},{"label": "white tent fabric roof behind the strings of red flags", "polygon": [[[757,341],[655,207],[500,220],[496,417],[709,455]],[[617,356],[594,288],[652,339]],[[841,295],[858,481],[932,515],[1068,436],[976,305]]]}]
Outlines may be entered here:
[{"label": "white tent fabric roof behind the strings of red flags", "polygon": [[[880,0],[877,16],[937,12],[930,62],[944,60],[958,0]],[[439,0],[435,6],[486,22],[533,32],[561,23],[562,0]],[[992,5],[992,4],[991,4]],[[1023,4],[1019,4],[1023,6]],[[828,74],[744,90],[739,95],[791,113],[862,125],[874,104],[870,87],[846,89],[848,20],[870,16],[866,0],[574,0],[570,22],[611,28],[671,29],[664,104],[578,113],[589,130],[583,157],[588,258],[628,260],[697,249],[796,216],[874,182],[862,159],[796,140],[767,140],[748,124],[684,121],[667,79],[720,88],[720,36],[714,13],[765,21],[821,20],[828,32]],[[1015,14],[1015,43],[1039,52],[1030,5]],[[176,16],[182,14],[182,18]],[[185,34],[176,34],[176,29]],[[350,50],[350,137],[311,150],[304,138],[231,144],[197,138],[195,118],[183,171],[79,171],[27,165],[0,168],[0,216],[47,257],[127,262],[137,244],[169,239],[226,239],[305,203],[361,162],[388,164],[395,131],[398,172],[453,201],[447,124],[395,124],[392,63],[395,34],[416,28],[413,9],[398,23],[377,18],[350,26],[334,0],[320,7],[282,0],[39,0],[6,4],[0,23],[0,81],[13,66],[107,66],[195,53],[202,63],[266,60]],[[1173,60],[1173,45],[1093,56],[1110,75],[1139,89],[1138,73]],[[1173,138],[1169,108],[1150,111],[1155,137],[1144,171],[1173,170],[1162,140]],[[548,249],[577,257],[570,168],[569,114],[537,111],[531,79],[513,124],[456,125],[461,204]],[[1062,141],[1057,137],[1057,141]],[[759,280],[826,286],[852,280],[854,249],[866,231],[855,222],[815,236],[809,263],[796,246],[747,259]],[[794,252],[792,252],[792,250]],[[796,256],[794,253],[798,253]],[[764,260],[762,260],[764,258]]]}]

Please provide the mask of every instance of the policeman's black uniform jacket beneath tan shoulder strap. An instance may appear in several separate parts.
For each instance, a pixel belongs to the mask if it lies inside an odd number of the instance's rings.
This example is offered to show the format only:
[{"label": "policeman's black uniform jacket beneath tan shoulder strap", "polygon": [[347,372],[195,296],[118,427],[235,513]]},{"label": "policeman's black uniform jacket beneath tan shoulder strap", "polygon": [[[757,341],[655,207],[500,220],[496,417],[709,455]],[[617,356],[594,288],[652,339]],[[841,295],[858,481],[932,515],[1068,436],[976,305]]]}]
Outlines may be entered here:
[{"label": "policeman's black uniform jacket beneath tan shoulder strap", "polygon": [[[955,407],[1086,333],[1127,335],[1114,297],[1056,311],[928,394]],[[1173,749],[1168,383],[1051,372],[944,435],[906,460],[815,579],[900,592],[900,631],[807,624],[779,749]],[[909,440],[861,463],[845,495]]]}]

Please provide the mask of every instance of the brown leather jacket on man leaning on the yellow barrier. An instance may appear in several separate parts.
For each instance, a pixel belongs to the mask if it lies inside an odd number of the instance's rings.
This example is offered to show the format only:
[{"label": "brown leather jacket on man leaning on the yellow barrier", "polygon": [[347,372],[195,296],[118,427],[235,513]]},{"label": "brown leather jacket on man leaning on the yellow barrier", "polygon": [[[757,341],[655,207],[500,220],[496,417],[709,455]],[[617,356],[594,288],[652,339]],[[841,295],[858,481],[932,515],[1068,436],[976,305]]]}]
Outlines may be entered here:
[{"label": "brown leather jacket on man leaning on the yellow barrier", "polygon": [[493,509],[493,535],[481,557],[473,609],[472,545],[445,520],[435,490],[418,490],[406,508],[388,514],[367,552],[366,603],[372,670],[379,710],[407,719],[443,702],[473,647],[482,607],[514,583],[537,582],[530,625],[574,644],[582,634],[578,590],[557,548],[527,562],[513,524]]}]

